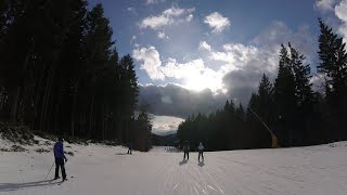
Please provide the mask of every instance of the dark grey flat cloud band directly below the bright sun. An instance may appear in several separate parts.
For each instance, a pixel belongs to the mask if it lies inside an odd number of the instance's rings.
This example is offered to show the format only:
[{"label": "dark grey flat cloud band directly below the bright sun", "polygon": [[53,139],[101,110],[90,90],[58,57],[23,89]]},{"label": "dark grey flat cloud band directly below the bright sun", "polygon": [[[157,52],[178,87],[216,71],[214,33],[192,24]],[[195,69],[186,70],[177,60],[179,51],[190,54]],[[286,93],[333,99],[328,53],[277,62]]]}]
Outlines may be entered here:
[{"label": "dark grey flat cloud band directly below the bright sun", "polygon": [[157,116],[187,118],[195,113],[208,114],[224,105],[227,96],[206,89],[200,92],[179,84],[140,84],[139,103],[147,104],[149,112]]}]

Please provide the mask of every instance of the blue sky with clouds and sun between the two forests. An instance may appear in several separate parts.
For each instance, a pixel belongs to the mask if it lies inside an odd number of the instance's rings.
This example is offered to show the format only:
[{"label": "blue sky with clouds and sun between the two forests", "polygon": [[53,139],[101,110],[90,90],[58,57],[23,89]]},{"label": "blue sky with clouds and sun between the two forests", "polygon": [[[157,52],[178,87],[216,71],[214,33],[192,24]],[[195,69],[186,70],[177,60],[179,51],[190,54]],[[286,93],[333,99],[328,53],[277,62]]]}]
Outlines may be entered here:
[{"label": "blue sky with clouds and sun between the two forests", "polygon": [[102,3],[120,55],[134,58],[139,102],[166,134],[227,100],[247,105],[262,74],[274,80],[279,47],[319,63],[318,17],[347,40],[347,0],[90,0]]}]

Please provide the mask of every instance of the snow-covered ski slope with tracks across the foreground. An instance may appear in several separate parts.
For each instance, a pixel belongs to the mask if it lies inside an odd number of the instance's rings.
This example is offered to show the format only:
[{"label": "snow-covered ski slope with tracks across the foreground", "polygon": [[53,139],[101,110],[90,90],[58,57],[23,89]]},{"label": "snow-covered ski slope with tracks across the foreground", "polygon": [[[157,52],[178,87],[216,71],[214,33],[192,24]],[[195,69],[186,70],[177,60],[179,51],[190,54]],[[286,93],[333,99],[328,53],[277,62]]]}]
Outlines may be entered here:
[{"label": "snow-covered ski slope with tracks across the foreground", "polygon": [[[40,143],[43,140],[40,141]],[[8,143],[0,142],[0,147]],[[67,146],[67,147],[66,147]],[[204,153],[205,162],[191,153],[155,147],[127,155],[121,146],[65,143],[68,181],[51,182],[52,153],[25,146],[27,152],[0,152],[0,194],[119,194],[119,195],[345,195],[347,143]]]}]

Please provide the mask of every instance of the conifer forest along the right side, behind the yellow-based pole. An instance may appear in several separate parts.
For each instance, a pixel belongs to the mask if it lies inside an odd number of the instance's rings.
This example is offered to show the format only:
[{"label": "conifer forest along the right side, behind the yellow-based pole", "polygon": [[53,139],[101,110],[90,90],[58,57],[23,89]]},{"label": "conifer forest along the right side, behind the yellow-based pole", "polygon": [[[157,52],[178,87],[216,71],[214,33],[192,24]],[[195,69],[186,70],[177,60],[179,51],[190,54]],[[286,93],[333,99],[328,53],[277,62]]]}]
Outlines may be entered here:
[{"label": "conifer forest along the right side, behind the yellow-based pole", "polygon": [[[247,107],[230,100],[209,115],[191,115],[178,128],[180,143],[189,141],[195,148],[202,141],[208,151],[271,147],[270,131],[282,147],[347,140],[346,43],[318,22],[317,64],[306,64],[294,46],[282,44],[277,78],[271,81],[264,74]],[[311,67],[324,90],[312,89]]]}]

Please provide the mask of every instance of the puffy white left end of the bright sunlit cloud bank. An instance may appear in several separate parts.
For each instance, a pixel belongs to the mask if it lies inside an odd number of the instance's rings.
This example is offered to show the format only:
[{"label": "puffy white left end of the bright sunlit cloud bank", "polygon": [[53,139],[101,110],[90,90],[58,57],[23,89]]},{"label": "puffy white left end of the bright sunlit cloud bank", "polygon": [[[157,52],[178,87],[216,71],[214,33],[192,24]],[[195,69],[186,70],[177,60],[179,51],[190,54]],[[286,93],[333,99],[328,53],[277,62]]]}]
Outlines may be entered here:
[{"label": "puffy white left end of the bright sunlit cloud bank", "polygon": [[137,48],[132,51],[132,56],[137,61],[143,62],[140,68],[144,69],[152,80],[165,78],[164,74],[159,70],[162,65],[159,53],[154,47]]}]

